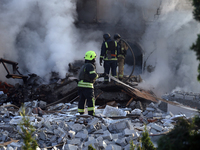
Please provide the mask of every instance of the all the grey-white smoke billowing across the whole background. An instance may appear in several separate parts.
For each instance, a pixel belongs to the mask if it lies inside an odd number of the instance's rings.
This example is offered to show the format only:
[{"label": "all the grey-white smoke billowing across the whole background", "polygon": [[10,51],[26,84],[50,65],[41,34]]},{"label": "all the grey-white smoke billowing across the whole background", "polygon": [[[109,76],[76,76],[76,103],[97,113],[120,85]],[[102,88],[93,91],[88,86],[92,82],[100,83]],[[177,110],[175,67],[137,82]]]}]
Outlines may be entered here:
[{"label": "all the grey-white smoke billowing across the whole background", "polygon": [[[84,30],[75,26],[76,3],[0,1],[0,57],[18,62],[24,75],[35,73],[45,78],[55,71],[63,78],[68,64],[83,60],[86,51],[93,50],[99,56],[103,32],[118,32],[124,39],[140,42],[146,67],[155,67],[151,73],[145,68],[141,86],[154,87],[160,95],[174,89],[198,91],[198,61],[190,46],[196,41],[200,24],[193,19],[191,1],[101,0],[96,17],[111,25]],[[2,65],[0,70],[0,80],[11,82],[5,79]],[[98,62],[97,70],[103,71]],[[129,66],[125,66],[125,73],[127,70],[131,70]]]}]

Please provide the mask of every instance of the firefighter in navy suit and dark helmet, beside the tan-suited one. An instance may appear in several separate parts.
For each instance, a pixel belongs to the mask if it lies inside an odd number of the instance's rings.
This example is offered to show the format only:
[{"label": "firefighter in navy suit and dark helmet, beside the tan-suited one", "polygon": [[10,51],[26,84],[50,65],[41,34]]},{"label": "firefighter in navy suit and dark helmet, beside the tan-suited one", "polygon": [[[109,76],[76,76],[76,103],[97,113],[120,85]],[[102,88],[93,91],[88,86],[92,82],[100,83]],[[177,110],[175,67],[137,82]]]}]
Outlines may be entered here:
[{"label": "firefighter in navy suit and dark helmet, beside the tan-suited one", "polygon": [[[109,74],[111,70],[111,75],[117,77],[117,56],[118,56],[118,46],[117,42],[112,40],[109,33],[103,35],[104,41],[101,46],[100,54],[100,65],[104,61],[104,73]],[[104,84],[108,84],[109,77],[104,77]]]}]

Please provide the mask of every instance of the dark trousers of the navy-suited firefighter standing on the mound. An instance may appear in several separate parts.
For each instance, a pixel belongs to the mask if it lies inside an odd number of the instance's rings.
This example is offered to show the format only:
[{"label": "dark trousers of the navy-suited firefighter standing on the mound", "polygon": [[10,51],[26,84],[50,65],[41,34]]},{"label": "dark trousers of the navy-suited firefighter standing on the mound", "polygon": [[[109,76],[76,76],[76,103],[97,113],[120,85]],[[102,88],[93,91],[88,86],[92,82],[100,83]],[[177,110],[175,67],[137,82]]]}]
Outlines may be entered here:
[{"label": "dark trousers of the navy-suited firefighter standing on the mound", "polygon": [[[117,77],[117,60],[104,60],[104,72],[109,74],[111,70],[111,75]],[[104,77],[104,81],[108,82],[109,77]]]}]

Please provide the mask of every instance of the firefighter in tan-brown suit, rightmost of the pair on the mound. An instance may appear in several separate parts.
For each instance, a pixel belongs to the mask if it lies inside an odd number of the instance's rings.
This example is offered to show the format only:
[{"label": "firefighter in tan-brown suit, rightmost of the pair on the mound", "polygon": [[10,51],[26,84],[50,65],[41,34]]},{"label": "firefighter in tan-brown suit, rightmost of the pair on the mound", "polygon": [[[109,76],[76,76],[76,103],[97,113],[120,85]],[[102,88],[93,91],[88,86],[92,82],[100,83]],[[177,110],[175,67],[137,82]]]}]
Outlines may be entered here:
[{"label": "firefighter in tan-brown suit, rightmost of the pair on the mound", "polygon": [[118,78],[123,79],[124,76],[124,60],[126,57],[128,46],[121,40],[121,36],[116,33],[114,35],[114,40],[118,43],[119,55],[118,55]]}]

